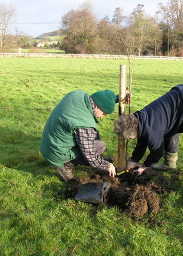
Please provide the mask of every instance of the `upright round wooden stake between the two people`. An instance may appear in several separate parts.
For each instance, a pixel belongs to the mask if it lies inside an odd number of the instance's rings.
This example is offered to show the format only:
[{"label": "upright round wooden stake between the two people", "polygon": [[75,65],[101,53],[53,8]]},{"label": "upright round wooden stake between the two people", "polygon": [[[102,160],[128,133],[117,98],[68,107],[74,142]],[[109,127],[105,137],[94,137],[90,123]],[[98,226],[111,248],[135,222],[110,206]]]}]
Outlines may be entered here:
[{"label": "upright round wooden stake between the two people", "polygon": [[[127,65],[120,65],[119,115],[125,115]],[[118,172],[125,169],[125,139],[118,138]]]}]

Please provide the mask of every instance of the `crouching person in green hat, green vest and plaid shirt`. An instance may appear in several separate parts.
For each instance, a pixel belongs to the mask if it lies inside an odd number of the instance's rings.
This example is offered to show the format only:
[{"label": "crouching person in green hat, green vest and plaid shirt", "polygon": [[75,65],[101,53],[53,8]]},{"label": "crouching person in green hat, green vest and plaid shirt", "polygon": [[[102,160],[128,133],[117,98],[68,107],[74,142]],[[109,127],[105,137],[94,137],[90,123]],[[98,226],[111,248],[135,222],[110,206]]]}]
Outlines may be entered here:
[{"label": "crouching person in green hat, green vest and plaid shirt", "polygon": [[106,145],[100,140],[97,118],[112,114],[116,95],[102,90],[92,95],[70,92],[52,110],[40,143],[44,159],[54,164],[65,182],[74,177],[74,166],[82,164],[109,172],[115,177],[112,157],[102,156]]}]

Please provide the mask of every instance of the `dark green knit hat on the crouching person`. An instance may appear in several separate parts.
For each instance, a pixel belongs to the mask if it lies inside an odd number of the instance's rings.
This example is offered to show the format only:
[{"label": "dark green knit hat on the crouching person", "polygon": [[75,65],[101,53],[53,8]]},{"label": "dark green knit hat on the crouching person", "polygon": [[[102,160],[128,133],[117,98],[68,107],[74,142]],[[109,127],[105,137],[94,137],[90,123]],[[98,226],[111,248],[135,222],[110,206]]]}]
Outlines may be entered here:
[{"label": "dark green knit hat on the crouching person", "polygon": [[95,104],[105,113],[112,114],[115,110],[116,95],[111,90],[95,92],[92,95]]}]

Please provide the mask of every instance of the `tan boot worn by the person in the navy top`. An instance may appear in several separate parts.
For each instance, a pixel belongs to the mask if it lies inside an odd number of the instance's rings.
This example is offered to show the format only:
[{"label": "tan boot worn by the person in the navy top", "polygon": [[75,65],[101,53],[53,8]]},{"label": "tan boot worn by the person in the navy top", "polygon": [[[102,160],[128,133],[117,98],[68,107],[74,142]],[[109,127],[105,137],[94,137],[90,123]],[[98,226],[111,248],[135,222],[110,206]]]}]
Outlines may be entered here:
[{"label": "tan boot worn by the person in the navy top", "polygon": [[170,153],[170,152],[166,152],[164,151],[164,163],[160,164],[160,165],[152,165],[151,168],[152,170],[155,171],[166,171],[168,169],[175,169],[177,167],[176,165],[176,161],[178,159],[178,154],[177,152],[175,153]]}]

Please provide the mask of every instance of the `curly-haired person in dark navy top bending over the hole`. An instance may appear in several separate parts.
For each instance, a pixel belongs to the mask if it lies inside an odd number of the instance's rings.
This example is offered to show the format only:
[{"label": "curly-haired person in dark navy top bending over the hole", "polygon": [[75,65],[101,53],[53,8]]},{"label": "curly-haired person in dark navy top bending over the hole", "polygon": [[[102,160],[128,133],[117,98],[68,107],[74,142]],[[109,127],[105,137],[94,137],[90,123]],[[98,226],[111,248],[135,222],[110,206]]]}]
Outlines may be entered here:
[{"label": "curly-haired person in dark navy top bending over the hole", "polygon": [[[150,150],[143,164],[134,170],[141,175],[151,166],[154,170],[176,168],[179,134],[183,132],[183,84],[171,88],[159,99],[140,111],[123,115],[115,121],[115,132],[126,139],[138,138],[127,169],[134,168],[145,151]],[[158,163],[164,156],[164,163]]]}]

